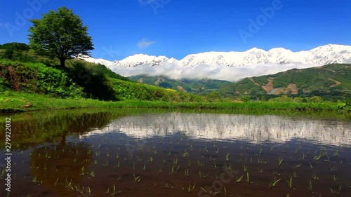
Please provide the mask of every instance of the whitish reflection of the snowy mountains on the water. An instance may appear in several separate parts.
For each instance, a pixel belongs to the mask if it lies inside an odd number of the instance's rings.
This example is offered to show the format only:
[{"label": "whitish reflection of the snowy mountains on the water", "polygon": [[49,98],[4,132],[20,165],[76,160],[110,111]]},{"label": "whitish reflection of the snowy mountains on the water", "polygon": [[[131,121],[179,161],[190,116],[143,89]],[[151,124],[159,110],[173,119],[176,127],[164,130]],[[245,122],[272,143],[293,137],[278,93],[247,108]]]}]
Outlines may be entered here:
[{"label": "whitish reflection of the snowy mountains on the water", "polygon": [[153,137],[182,132],[206,140],[285,142],[296,138],[322,144],[351,144],[351,123],[284,116],[236,114],[145,114],[117,119],[103,129],[81,135],[126,133],[130,137]]}]

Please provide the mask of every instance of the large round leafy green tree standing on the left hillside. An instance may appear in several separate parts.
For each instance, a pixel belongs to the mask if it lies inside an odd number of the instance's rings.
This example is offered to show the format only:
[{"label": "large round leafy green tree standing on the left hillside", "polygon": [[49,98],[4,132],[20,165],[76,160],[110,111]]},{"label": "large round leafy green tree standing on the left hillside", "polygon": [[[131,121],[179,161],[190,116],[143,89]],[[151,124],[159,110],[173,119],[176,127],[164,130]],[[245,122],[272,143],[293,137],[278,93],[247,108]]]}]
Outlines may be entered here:
[{"label": "large round leafy green tree standing on the left hillside", "polygon": [[78,54],[90,55],[88,51],[94,49],[88,27],[66,7],[30,21],[33,26],[29,27],[29,46],[39,55],[58,57],[62,67],[67,59]]}]

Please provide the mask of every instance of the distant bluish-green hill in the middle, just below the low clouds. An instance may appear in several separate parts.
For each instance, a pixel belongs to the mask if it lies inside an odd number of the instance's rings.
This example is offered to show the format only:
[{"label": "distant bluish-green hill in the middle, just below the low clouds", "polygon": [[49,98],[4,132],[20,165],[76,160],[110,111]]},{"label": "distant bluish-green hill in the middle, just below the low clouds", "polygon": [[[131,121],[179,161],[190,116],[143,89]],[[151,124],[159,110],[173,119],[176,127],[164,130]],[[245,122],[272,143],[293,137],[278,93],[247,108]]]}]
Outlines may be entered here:
[{"label": "distant bluish-green hill in the middle, just below the low clouds", "polygon": [[162,88],[171,88],[173,90],[181,90],[199,95],[207,95],[223,86],[232,84],[230,81],[216,79],[170,79],[168,76],[148,76],[146,74],[128,76],[128,79]]}]

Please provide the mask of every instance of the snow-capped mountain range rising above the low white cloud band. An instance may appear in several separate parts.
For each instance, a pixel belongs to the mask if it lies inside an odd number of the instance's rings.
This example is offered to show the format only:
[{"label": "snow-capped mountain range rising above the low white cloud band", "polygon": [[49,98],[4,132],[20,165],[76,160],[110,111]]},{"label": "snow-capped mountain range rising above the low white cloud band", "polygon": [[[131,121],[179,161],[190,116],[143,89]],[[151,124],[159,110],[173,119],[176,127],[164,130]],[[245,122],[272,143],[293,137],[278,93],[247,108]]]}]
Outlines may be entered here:
[{"label": "snow-capped mountain range rising above the low white cloud band", "polygon": [[138,67],[140,65],[177,65],[180,67],[194,67],[196,65],[207,66],[227,66],[245,67],[258,64],[331,64],[331,63],[351,63],[351,46],[328,44],[292,52],[285,48],[272,48],[265,51],[259,48],[251,48],[244,52],[205,52],[187,55],[181,60],[176,60],[166,56],[153,56],[145,54],[135,54],[123,60],[108,61],[94,59],[84,55],[77,58],[88,62],[100,63],[113,69],[116,67]]}]

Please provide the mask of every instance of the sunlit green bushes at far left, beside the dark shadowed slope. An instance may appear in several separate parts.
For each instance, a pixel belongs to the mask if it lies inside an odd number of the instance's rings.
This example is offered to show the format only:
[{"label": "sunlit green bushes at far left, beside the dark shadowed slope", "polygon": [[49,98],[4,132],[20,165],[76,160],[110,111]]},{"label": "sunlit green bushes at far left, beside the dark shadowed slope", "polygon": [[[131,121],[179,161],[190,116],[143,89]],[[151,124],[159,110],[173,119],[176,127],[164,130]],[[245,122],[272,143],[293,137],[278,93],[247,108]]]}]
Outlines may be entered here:
[{"label": "sunlit green bushes at far left, beside the dark shadowed slope", "polygon": [[1,89],[53,97],[81,97],[82,89],[64,72],[41,63],[0,60]]}]

